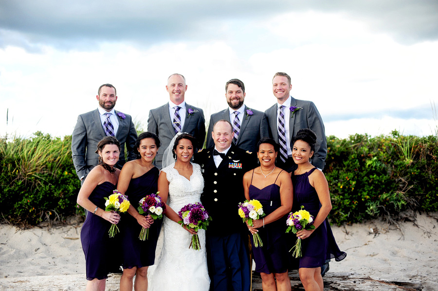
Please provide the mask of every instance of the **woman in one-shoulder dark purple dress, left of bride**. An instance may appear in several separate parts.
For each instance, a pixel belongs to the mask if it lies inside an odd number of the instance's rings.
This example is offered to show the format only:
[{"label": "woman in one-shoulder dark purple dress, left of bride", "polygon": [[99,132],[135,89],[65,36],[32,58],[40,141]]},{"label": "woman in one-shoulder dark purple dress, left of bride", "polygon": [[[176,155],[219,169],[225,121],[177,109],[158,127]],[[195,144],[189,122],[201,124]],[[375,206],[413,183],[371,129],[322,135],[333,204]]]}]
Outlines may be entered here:
[{"label": "woman in one-shoulder dark purple dress, left of bride", "polygon": [[[146,195],[157,193],[158,175],[160,171],[152,162],[155,159],[160,139],[154,133],[144,132],[136,141],[139,158],[127,162],[120,173],[117,189],[125,193],[131,205],[128,213],[121,222],[120,234],[122,238],[122,267],[120,291],[147,290],[147,269],[154,264],[155,249],[161,230],[162,220],[154,220],[150,216],[140,215],[137,211],[139,201]],[[140,231],[149,229],[148,239],[140,240]],[[135,275],[135,282],[132,279]]]}]

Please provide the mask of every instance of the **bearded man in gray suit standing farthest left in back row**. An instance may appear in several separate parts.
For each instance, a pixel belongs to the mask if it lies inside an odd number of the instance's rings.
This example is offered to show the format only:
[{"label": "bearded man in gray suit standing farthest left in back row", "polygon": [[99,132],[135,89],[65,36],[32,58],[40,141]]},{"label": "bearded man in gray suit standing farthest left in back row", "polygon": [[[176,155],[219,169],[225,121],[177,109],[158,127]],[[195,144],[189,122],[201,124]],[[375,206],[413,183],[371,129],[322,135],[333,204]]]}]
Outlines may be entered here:
[{"label": "bearded man in gray suit standing farthest left in back row", "polygon": [[81,184],[91,169],[99,163],[99,155],[95,151],[97,143],[103,137],[113,136],[120,142],[117,168],[122,169],[125,164],[125,144],[128,161],[136,158],[134,148],[137,131],[128,114],[114,110],[117,101],[116,88],[111,84],[104,84],[99,87],[97,94],[99,106],[96,110],[78,116],[72,135],[73,164]]}]

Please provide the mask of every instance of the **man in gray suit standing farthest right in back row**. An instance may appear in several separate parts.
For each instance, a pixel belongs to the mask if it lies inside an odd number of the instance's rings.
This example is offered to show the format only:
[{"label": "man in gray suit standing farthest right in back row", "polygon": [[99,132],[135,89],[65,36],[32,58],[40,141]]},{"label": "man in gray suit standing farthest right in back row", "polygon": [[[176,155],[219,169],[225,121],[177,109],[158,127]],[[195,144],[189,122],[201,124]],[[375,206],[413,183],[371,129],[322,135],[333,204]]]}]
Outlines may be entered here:
[{"label": "man in gray suit standing farthest right in back row", "polygon": [[297,100],[290,95],[292,89],[291,77],[282,72],[275,73],[273,78],[273,93],[277,98],[271,108],[263,115],[269,137],[274,138],[280,144],[280,152],[277,156],[277,165],[286,171],[294,171],[296,168],[292,159],[292,138],[298,130],[310,128],[317,136],[315,153],[312,165],[323,170],[327,156],[327,139],[324,123],[321,115],[311,101]]}]

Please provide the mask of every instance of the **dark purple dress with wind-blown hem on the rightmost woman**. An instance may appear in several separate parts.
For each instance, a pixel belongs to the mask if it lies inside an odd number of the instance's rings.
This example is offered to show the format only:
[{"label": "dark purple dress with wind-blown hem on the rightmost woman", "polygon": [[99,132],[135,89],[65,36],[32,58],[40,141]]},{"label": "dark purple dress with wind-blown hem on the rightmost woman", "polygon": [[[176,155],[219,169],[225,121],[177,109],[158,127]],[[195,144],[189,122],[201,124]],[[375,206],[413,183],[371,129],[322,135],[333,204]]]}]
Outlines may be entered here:
[{"label": "dark purple dress with wind-blown hem on the rightmost woman", "polygon": [[[304,209],[309,211],[314,219],[321,208],[318,194],[309,183],[309,175],[315,170],[316,168],[313,168],[303,174],[292,175],[292,212],[298,211],[301,206],[304,206]],[[295,243],[296,236],[292,235],[294,236],[293,243]],[[339,250],[327,218],[309,238],[301,241],[301,250],[303,256],[299,258],[299,268],[318,268],[324,265],[326,259],[334,258],[336,261],[340,261],[347,256],[345,252]]]}]

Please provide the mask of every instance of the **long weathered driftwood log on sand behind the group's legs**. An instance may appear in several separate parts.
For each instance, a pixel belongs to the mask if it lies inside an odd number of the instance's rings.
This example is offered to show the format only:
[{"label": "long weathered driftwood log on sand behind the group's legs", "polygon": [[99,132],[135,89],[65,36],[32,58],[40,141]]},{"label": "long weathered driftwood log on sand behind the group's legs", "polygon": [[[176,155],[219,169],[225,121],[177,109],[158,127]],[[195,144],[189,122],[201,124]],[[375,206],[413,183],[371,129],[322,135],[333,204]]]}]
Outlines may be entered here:
[{"label": "long weathered driftwood log on sand behind the group's legs", "polygon": [[[120,274],[110,274],[107,291],[118,291]],[[289,272],[292,291],[304,291],[298,272]],[[2,291],[76,291],[85,290],[85,274],[33,276],[0,279]],[[261,278],[253,274],[253,291],[261,291]],[[375,280],[354,273],[328,273],[324,277],[324,291],[417,291],[423,290],[419,281]]]}]

